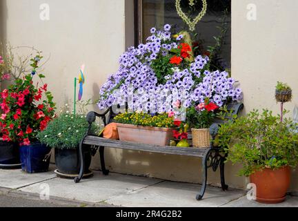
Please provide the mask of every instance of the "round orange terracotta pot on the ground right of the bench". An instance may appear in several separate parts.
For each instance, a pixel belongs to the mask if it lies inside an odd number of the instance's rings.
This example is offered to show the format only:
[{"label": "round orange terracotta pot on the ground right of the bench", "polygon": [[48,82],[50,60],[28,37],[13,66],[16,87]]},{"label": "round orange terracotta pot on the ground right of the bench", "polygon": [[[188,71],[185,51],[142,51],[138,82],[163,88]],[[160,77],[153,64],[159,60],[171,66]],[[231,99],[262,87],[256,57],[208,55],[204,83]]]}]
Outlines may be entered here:
[{"label": "round orange terracotta pot on the ground right of the bench", "polygon": [[250,175],[257,186],[257,202],[274,204],[284,202],[290,186],[290,166],[281,169],[264,169]]}]

